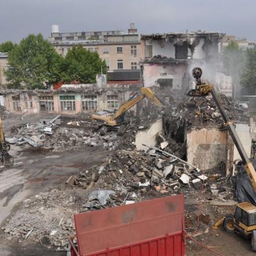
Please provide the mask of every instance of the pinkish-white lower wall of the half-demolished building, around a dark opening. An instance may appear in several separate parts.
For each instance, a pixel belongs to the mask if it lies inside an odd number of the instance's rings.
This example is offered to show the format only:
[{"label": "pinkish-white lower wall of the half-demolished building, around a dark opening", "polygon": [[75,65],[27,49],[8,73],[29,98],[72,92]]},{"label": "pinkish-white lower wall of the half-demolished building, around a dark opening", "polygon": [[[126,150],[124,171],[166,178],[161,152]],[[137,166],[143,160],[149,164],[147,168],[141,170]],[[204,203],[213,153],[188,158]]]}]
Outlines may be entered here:
[{"label": "pinkish-white lower wall of the half-demolished building, around a dark opening", "polygon": [[143,65],[143,86],[159,86],[158,80],[172,79],[172,88],[182,90],[182,79],[187,67],[184,63],[159,64],[147,63]]}]

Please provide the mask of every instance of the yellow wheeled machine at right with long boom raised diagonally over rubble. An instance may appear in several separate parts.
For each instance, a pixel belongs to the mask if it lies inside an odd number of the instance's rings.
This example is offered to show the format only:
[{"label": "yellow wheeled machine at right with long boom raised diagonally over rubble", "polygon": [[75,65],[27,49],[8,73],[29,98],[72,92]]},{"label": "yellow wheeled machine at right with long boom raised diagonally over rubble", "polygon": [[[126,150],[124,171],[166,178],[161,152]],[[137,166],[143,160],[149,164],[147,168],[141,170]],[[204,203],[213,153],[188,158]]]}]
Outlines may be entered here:
[{"label": "yellow wheeled machine at right with long boom raised diagonally over rubble", "polygon": [[[244,150],[243,145],[241,144],[240,138],[236,133],[233,122],[227,116],[225,110],[222,108],[221,102],[219,101],[218,95],[214,90],[214,86],[209,84],[207,80],[201,80],[202,69],[200,67],[195,67],[193,69],[193,77],[195,78],[195,89],[191,90],[188,95],[191,96],[203,96],[203,95],[212,95],[216,106],[219,109],[219,112],[222,115],[222,118],[225,122],[225,126],[229,131],[230,136],[233,139],[234,144],[236,145],[237,151],[240,154],[240,157],[243,161],[244,169],[247,172],[248,177],[250,178],[251,184],[253,185],[254,190],[256,191],[256,172],[248,158],[246,151]],[[239,233],[241,236],[246,238],[251,238],[251,250],[256,251],[256,206],[250,202],[240,202],[236,205],[234,214],[229,214],[220,219],[215,223],[214,229],[218,228],[219,225],[222,225],[226,232],[228,233]]]}]

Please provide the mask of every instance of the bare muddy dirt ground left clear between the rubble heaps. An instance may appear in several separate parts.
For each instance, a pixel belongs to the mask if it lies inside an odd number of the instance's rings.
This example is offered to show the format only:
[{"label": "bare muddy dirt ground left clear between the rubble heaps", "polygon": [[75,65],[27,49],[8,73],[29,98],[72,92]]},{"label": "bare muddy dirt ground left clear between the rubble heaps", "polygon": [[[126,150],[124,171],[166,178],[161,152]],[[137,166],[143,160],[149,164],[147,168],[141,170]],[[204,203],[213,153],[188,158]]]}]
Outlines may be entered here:
[{"label": "bare muddy dirt ground left clear between the rubble heaps", "polygon": [[[26,116],[23,120],[6,119],[3,126],[6,134],[12,126],[35,122],[42,116]],[[10,154],[15,162],[22,162],[12,168],[0,170],[0,226],[15,211],[24,198],[37,193],[49,191],[55,187],[65,186],[70,175],[85,171],[95,164],[102,163],[109,151],[102,147],[80,148],[66,152],[49,152],[30,146],[18,147],[12,145]],[[220,217],[216,214],[217,221]],[[195,237],[200,243],[217,251],[219,255],[254,255],[251,252],[250,240],[245,240],[238,234],[225,233],[220,227],[214,231]],[[66,252],[56,251],[56,248],[42,247],[40,244],[19,243],[17,240],[0,239],[0,256],[2,255],[66,255]],[[214,255],[193,241],[186,239],[186,255]]]}]

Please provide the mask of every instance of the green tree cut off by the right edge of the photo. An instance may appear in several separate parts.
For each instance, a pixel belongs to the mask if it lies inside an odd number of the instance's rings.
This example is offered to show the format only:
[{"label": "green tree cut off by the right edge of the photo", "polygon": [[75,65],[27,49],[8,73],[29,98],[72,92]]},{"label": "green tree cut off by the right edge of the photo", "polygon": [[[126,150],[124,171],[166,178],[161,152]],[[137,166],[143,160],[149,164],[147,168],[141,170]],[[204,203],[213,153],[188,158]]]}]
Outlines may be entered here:
[{"label": "green tree cut off by the right edge of the photo", "polygon": [[256,93],[256,47],[247,49],[246,69],[241,77],[241,84],[248,90],[248,93]]}]

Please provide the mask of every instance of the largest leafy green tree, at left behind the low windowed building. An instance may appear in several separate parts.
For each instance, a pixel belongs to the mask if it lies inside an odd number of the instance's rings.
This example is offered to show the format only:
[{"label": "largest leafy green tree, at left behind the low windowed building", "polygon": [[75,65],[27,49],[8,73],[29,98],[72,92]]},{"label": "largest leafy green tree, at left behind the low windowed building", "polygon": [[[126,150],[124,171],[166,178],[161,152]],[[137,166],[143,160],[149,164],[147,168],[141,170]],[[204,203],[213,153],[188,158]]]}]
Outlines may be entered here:
[{"label": "largest leafy green tree, at left behind the low windowed building", "polygon": [[30,34],[9,53],[7,80],[12,87],[45,88],[61,80],[62,57],[41,34]]}]

